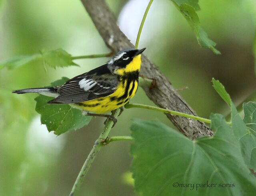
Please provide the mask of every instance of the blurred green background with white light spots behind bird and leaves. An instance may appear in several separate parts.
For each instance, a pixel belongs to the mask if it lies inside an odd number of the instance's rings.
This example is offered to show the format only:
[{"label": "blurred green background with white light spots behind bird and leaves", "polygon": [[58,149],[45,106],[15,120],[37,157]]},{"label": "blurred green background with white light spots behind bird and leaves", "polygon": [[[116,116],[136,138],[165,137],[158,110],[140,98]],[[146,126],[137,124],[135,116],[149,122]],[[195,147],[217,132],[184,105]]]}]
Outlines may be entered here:
[{"label": "blurred green background with white light spots behind bird and leaves", "polygon": [[[135,42],[148,0],[107,0],[118,24]],[[219,79],[238,105],[256,91],[252,45],[256,29],[255,0],[200,0],[202,27],[217,43],[221,55],[200,48],[192,29],[170,0],[155,0],[148,13],[139,47],[166,74],[182,97],[202,117],[228,113],[212,88]],[[0,0],[0,61],[40,49],[63,48],[72,55],[108,52],[79,0]],[[0,196],[68,195],[94,141],[103,128],[102,118],[56,137],[40,125],[34,111],[36,95],[11,91],[47,86],[62,76],[73,77],[108,58],[76,60],[80,67],[48,68],[34,61],[17,69],[0,70]],[[154,105],[142,89],[131,103]],[[164,114],[127,109],[110,135],[130,135],[132,118],[159,119]],[[78,195],[132,196],[125,180],[132,161],[130,142],[102,148]]]}]

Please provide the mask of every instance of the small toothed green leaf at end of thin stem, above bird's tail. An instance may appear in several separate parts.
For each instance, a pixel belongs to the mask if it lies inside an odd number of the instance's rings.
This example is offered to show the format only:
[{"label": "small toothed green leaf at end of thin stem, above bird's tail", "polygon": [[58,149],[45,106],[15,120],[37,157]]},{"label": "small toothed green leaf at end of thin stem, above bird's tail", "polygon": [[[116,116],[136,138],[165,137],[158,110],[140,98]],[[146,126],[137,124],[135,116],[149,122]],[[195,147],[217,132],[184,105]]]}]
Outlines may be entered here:
[{"label": "small toothed green leaf at end of thin stem, above bird's tail", "polygon": [[50,67],[67,67],[70,65],[77,65],[72,61],[72,56],[64,49],[56,49],[51,51],[42,51],[43,60]]}]

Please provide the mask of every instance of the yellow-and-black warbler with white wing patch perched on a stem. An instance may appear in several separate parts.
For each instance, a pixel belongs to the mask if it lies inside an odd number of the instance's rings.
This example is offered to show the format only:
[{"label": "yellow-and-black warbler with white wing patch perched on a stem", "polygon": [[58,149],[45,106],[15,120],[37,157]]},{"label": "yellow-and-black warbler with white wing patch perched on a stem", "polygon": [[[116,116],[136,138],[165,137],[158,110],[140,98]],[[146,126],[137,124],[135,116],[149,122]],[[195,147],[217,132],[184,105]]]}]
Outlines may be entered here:
[{"label": "yellow-and-black warbler with white wing patch perched on a stem", "polygon": [[116,118],[105,113],[120,108],[120,115],[123,105],[134,97],[138,89],[141,54],[145,49],[123,49],[106,64],[77,75],[60,86],[20,89],[12,93],[55,97],[48,104],[69,104],[80,109],[83,115],[106,117],[106,121],[112,119],[115,125]]}]

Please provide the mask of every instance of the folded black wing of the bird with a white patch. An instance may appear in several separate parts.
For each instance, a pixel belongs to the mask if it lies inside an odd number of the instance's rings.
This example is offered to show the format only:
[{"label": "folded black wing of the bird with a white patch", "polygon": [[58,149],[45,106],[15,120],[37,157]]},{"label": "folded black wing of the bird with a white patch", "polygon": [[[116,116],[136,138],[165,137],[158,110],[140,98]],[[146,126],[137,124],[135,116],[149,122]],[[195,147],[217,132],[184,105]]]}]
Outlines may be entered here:
[{"label": "folded black wing of the bird with a white patch", "polygon": [[107,65],[68,80],[58,91],[59,96],[48,103],[79,103],[108,96],[116,90],[118,77]]}]

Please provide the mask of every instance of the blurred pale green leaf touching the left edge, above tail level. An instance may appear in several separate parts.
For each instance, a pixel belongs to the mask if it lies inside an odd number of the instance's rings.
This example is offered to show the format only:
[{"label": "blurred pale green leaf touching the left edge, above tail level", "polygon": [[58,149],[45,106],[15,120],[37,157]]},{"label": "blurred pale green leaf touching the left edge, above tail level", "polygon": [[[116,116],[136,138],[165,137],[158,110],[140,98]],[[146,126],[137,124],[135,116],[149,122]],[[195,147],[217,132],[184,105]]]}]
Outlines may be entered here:
[{"label": "blurred pale green leaf touching the left edge, above tail level", "polygon": [[26,65],[31,61],[36,59],[40,59],[42,57],[41,54],[34,54],[34,55],[21,55],[12,57],[10,59],[4,60],[0,62],[0,69],[7,67],[8,69],[14,69],[20,67],[22,65]]}]

